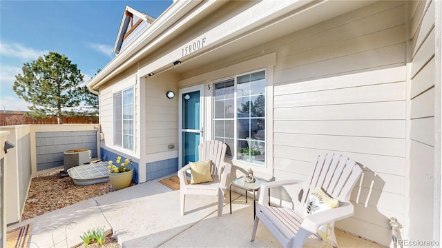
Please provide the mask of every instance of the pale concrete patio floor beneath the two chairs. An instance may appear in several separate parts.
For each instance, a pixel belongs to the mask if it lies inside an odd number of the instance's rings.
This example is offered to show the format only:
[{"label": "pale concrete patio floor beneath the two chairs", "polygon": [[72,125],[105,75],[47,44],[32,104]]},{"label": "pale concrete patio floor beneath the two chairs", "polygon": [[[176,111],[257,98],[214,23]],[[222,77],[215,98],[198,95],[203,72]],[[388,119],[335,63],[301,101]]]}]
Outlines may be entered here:
[{"label": "pale concrete patio floor beneath the two chairs", "polygon": [[[166,178],[166,177],[164,177]],[[280,247],[264,225],[253,228],[253,200],[232,193],[224,199],[217,218],[216,198],[186,196],[186,213],[180,215],[180,192],[158,180],[121,189],[75,205],[10,225],[8,230],[32,223],[30,248],[77,247],[88,229],[113,231],[122,247]],[[381,247],[374,242],[336,231],[340,247]]]}]

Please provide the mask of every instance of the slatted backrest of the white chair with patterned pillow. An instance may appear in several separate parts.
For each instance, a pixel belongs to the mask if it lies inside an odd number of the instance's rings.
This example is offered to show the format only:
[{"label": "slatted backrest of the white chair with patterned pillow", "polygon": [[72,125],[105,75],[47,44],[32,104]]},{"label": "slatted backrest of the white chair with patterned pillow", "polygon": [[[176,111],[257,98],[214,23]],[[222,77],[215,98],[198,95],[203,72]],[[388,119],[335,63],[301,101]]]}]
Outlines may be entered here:
[{"label": "slatted backrest of the white chair with patterned pillow", "polygon": [[362,173],[361,167],[340,154],[320,155],[311,163],[311,174],[302,195],[305,203],[310,192],[316,187],[322,187],[334,198],[347,201],[351,190]]}]

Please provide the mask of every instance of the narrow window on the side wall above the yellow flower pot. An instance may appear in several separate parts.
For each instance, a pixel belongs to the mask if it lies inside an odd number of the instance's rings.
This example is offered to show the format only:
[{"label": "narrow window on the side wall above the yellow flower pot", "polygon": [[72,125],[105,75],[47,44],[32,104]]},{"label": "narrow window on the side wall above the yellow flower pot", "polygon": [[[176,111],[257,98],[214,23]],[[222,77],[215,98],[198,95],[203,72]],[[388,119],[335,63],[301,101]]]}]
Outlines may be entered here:
[{"label": "narrow window on the side wall above the yellow flower pot", "polygon": [[114,145],[133,151],[133,88],[113,94]]}]

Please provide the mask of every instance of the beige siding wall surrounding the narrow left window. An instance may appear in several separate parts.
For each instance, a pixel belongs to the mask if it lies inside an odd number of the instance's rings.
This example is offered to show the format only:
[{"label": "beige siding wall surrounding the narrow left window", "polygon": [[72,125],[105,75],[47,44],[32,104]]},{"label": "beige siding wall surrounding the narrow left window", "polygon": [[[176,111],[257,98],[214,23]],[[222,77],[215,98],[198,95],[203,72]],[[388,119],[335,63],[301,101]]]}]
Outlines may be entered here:
[{"label": "beige siding wall surrounding the narrow left window", "polygon": [[[130,154],[131,156],[135,156],[135,154],[138,154],[137,151],[140,150],[139,147],[137,147],[137,144],[139,141],[137,138],[140,136],[139,130],[137,130],[138,121],[140,120],[140,106],[138,103],[140,103],[140,87],[139,83],[137,81],[137,68],[133,67],[129,70],[126,70],[116,76],[114,79],[109,81],[104,86],[101,86],[99,88],[99,123],[102,127],[102,132],[104,133],[104,143],[105,148],[111,148],[116,149],[117,151],[126,152],[126,154]],[[135,116],[134,116],[134,151],[133,153],[128,153],[126,150],[122,149],[121,147],[115,147],[113,145],[113,94],[127,89],[128,87],[134,87],[134,107],[135,107]],[[140,157],[140,156],[135,156]]]}]

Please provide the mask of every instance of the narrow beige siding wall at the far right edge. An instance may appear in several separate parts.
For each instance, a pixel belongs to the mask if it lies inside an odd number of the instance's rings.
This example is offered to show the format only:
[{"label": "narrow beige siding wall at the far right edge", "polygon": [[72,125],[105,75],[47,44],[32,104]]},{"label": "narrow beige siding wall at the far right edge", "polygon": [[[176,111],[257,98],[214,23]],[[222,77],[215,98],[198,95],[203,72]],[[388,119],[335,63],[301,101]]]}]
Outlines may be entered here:
[{"label": "narrow beige siding wall at the far right edge", "polygon": [[[434,2],[408,2],[411,39],[410,240],[432,240],[434,185]],[[439,68],[440,70],[440,68]],[[425,211],[423,211],[425,209]]]}]

